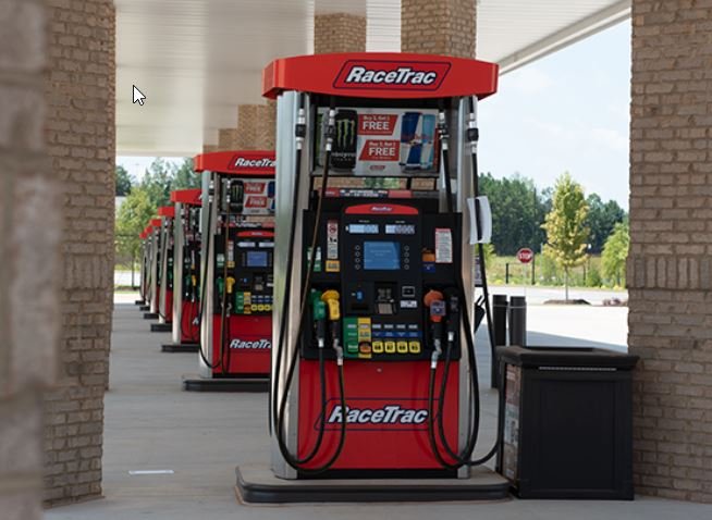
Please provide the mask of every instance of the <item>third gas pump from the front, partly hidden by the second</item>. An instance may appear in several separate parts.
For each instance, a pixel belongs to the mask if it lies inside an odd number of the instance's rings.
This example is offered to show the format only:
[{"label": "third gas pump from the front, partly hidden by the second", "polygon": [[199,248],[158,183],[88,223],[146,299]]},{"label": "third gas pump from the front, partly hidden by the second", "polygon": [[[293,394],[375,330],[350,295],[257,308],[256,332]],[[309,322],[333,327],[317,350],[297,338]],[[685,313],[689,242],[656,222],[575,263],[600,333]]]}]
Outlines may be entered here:
[{"label": "third gas pump from the front, partly hidden by the second", "polygon": [[197,352],[200,342],[201,189],[171,193],[173,220],[173,343],[164,352]]}]

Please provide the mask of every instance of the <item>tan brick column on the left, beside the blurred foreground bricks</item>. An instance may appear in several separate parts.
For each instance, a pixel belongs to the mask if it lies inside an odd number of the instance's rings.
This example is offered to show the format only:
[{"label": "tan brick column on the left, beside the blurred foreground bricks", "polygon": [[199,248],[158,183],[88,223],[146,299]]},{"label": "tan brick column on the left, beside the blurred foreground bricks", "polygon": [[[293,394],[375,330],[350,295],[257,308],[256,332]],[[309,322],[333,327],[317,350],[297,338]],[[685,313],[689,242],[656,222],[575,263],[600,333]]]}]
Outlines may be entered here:
[{"label": "tan brick column on the left, beside the blurred foreground bricks", "polygon": [[[47,504],[101,494],[114,222],[111,0],[48,0],[47,143],[62,182],[60,380],[46,398]],[[45,215],[52,214],[45,210]],[[32,294],[32,293],[28,293]]]}]

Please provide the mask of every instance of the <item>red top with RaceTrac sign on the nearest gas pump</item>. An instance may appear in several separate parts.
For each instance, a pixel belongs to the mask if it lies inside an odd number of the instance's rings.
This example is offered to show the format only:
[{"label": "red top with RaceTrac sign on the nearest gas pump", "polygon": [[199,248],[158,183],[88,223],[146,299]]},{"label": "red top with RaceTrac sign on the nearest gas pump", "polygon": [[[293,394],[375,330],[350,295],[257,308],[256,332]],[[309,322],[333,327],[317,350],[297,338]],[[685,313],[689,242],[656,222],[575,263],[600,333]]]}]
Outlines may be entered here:
[{"label": "red top with RaceTrac sign on the nearest gas pump", "polygon": [[499,65],[401,52],[341,52],[274,60],[262,71],[262,96],[284,90],[355,98],[484,98],[496,92]]}]

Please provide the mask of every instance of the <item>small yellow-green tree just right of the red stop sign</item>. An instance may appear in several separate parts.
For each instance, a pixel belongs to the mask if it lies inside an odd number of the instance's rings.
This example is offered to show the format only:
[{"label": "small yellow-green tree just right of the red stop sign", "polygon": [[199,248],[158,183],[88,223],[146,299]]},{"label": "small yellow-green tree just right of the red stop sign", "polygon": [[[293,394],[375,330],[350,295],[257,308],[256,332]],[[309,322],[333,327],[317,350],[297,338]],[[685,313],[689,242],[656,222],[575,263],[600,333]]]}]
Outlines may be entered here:
[{"label": "small yellow-green tree just right of the red stop sign", "polygon": [[568,172],[556,181],[552,208],[542,227],[547,231],[544,255],[564,270],[564,286],[568,301],[568,276],[572,268],[586,260],[589,230],[586,227],[588,206],[584,188]]}]

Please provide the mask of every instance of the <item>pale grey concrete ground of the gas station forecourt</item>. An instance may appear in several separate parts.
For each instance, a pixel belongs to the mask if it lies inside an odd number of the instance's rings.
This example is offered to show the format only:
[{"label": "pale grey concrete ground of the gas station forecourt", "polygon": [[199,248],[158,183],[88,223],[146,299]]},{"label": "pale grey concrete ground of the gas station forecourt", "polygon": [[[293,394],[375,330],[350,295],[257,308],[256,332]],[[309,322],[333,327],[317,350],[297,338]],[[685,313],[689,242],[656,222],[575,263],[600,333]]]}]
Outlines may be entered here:
[{"label": "pale grey concrete ground of the gas station forecourt", "polygon": [[[131,298],[131,299],[130,299]],[[123,297],[124,301],[133,301]],[[556,329],[530,334],[530,342],[580,345],[600,331],[598,320],[562,318],[557,307],[542,307]],[[565,309],[566,312],[569,309]],[[578,312],[582,312],[581,309]],[[625,337],[622,309],[599,317]],[[148,321],[131,304],[116,305],[111,355],[111,388],[106,396],[103,490],[106,498],[47,511],[50,520],[212,519],[640,519],[709,520],[712,507],[639,497],[634,503],[517,500],[447,504],[241,505],[234,495],[236,465],[266,463],[267,403],[261,394],[194,394],[181,389],[184,374],[195,374],[195,354],[162,354],[167,333],[150,333]],[[540,323],[540,324],[541,324]],[[588,323],[588,325],[587,325]],[[533,323],[532,323],[533,324]],[[541,327],[537,327],[541,331]],[[566,331],[578,339],[566,339]],[[617,331],[617,332],[616,332]],[[539,335],[537,335],[539,334]],[[597,336],[598,337],[598,336]],[[483,338],[484,339],[484,338]],[[533,342],[532,342],[533,343]],[[539,342],[536,342],[541,344]],[[479,342],[480,346],[486,342]],[[613,345],[615,346],[615,345]],[[617,348],[622,348],[619,345]],[[482,372],[487,352],[481,350]],[[483,386],[488,385],[483,377]],[[486,394],[483,437],[491,437],[495,396]],[[487,441],[484,441],[487,443]],[[173,470],[173,474],[131,475],[131,470]]]}]

